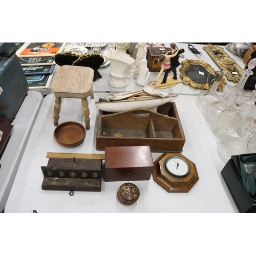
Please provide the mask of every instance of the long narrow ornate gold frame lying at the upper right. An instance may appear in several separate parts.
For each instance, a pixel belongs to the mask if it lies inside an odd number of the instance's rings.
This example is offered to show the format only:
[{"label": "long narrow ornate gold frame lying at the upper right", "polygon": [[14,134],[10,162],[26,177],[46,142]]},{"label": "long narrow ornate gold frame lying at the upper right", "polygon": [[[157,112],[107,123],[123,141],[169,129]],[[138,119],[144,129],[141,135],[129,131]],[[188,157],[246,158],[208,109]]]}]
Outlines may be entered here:
[{"label": "long narrow ornate gold frame lying at the upper right", "polygon": [[226,77],[228,81],[232,81],[234,83],[239,82],[241,77],[243,76],[243,70],[238,65],[236,61],[234,61],[222,47],[207,45],[203,47],[209,56],[214,60],[216,65],[223,71],[227,71]]}]

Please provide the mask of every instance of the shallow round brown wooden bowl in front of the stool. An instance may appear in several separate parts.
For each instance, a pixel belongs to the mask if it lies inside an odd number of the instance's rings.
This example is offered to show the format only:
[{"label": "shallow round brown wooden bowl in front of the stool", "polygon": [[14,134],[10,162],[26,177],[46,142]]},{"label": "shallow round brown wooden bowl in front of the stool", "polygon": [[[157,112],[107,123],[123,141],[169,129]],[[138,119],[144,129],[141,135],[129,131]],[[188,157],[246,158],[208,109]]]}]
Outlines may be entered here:
[{"label": "shallow round brown wooden bowl in front of the stool", "polygon": [[62,146],[77,146],[86,137],[86,128],[77,122],[65,122],[55,128],[53,135]]}]

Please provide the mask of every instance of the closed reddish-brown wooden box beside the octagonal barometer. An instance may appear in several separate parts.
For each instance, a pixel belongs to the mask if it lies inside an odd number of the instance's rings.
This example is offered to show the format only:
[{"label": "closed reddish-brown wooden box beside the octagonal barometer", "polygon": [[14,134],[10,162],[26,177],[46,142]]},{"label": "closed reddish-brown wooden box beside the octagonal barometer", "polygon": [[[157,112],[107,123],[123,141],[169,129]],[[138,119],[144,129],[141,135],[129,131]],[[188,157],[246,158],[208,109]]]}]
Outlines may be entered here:
[{"label": "closed reddish-brown wooden box beside the octagonal barometer", "polygon": [[153,169],[149,146],[105,147],[105,181],[149,180]]}]

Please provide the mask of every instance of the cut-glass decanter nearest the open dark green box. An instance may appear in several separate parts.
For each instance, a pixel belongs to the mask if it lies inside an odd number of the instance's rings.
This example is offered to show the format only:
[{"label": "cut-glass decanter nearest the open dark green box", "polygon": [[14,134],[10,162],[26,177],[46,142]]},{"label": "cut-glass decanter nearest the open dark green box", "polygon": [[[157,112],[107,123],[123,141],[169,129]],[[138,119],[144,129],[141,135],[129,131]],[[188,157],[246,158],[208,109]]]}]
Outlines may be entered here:
[{"label": "cut-glass decanter nearest the open dark green box", "polygon": [[219,143],[219,152],[223,160],[228,161],[231,156],[256,153],[255,148],[250,144],[250,139],[256,133],[256,117],[248,119],[248,129],[242,138],[225,137]]}]

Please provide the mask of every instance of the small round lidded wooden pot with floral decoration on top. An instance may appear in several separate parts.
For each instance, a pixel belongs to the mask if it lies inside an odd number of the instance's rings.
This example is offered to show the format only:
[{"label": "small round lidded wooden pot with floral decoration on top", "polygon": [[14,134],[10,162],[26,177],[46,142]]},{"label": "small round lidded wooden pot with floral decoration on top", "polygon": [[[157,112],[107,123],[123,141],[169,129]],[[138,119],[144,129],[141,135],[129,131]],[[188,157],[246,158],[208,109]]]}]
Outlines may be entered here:
[{"label": "small round lidded wooden pot with floral decoration on top", "polygon": [[139,188],[133,183],[122,184],[117,191],[117,199],[124,205],[134,204],[140,196]]}]

